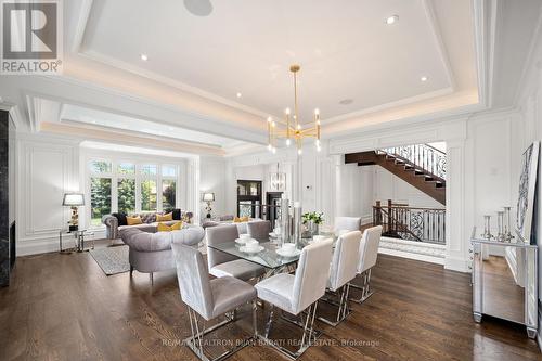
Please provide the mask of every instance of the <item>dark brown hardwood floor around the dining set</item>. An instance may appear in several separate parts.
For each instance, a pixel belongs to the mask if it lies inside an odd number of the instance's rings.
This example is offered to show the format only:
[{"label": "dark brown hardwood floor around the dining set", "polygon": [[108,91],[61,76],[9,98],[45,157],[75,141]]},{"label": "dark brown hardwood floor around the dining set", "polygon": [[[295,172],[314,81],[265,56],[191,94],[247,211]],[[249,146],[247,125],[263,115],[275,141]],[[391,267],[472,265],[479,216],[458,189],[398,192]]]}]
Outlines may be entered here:
[{"label": "dark brown hardwood floor around the dining set", "polygon": [[[106,276],[89,254],[48,254],[18,258],[11,284],[0,289],[0,360],[195,360],[179,345],[190,325],[173,272],[151,286],[138,272]],[[302,360],[542,360],[522,326],[473,322],[468,274],[380,255],[373,285],[347,321],[317,324],[324,334]],[[220,335],[242,337],[249,314]],[[283,323],[275,338],[293,335]],[[232,358],[278,359],[267,346]]]}]

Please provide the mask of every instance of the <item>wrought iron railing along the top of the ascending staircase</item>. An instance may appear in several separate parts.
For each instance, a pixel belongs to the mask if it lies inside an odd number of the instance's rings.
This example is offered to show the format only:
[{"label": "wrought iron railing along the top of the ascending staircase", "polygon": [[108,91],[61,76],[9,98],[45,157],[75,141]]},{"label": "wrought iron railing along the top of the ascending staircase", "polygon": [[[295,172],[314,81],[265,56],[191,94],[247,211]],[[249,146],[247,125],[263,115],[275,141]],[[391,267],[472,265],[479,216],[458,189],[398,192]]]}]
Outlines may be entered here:
[{"label": "wrought iron railing along the top of the ascending staircase", "polygon": [[429,144],[393,146],[376,152],[402,160],[405,165],[418,168],[435,179],[446,181],[446,153]]}]

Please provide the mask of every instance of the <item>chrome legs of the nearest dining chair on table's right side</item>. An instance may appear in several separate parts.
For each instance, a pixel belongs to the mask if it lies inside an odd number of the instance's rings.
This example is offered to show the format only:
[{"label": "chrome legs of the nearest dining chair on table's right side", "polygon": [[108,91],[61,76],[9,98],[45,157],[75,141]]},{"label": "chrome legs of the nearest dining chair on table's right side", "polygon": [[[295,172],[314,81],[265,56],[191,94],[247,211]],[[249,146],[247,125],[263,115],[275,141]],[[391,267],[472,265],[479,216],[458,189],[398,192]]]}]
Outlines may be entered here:
[{"label": "chrome legs of the nearest dining chair on table's right side", "polygon": [[[282,354],[288,357],[292,360],[297,360],[310,346],[314,344],[317,340],[318,336],[321,334],[319,331],[314,330],[314,319],[317,314],[317,308],[318,308],[318,302],[312,304],[307,308],[307,312],[301,312],[300,314],[305,317],[305,320],[302,322],[296,322],[293,320],[288,320],[286,318],[283,318],[284,320],[296,324],[298,326],[301,326],[302,328],[302,336],[301,336],[301,343],[299,346],[299,349],[297,351],[291,351],[286,349],[285,347],[281,346],[278,343],[274,343],[273,340],[269,339],[269,330],[270,327],[266,327],[266,334],[263,336],[258,335],[258,338],[266,343],[267,345],[271,346]],[[268,319],[269,323],[269,319]]]}]

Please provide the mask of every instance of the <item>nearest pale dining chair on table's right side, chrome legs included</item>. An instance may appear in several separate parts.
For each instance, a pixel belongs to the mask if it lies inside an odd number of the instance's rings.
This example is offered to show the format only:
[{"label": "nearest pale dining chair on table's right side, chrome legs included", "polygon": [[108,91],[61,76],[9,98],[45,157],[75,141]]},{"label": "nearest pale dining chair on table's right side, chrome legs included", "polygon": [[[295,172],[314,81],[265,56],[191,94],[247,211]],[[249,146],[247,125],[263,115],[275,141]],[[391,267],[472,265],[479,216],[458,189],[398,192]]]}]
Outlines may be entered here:
[{"label": "nearest pale dining chair on table's right side, chrome legs included", "polygon": [[[328,267],[322,267],[322,265],[330,265],[332,245],[332,240],[325,240],[306,246],[301,250],[295,275],[289,273],[276,274],[257,283],[255,286],[258,298],[271,304],[266,332],[259,337],[292,359],[300,357],[317,338],[313,324],[318,300],[324,296],[330,276]],[[301,341],[297,351],[291,351],[279,343],[269,339],[274,307],[294,315],[305,315],[301,323],[296,323],[302,326]]]}]

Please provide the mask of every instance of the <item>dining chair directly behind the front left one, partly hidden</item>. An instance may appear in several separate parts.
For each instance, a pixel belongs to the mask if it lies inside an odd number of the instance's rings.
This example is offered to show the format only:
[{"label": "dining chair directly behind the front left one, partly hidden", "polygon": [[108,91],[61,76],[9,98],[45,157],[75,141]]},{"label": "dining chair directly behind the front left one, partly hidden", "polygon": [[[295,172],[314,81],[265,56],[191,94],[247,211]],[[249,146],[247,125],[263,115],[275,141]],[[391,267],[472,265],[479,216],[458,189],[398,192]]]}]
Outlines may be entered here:
[{"label": "dining chair directly behind the front left one, partly hidden", "polygon": [[264,268],[245,259],[215,249],[212,245],[235,242],[238,230],[235,224],[210,227],[207,232],[207,261],[209,273],[217,278],[232,276],[243,281],[260,276]]}]

